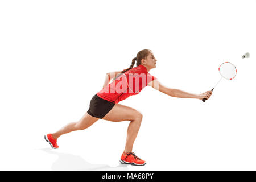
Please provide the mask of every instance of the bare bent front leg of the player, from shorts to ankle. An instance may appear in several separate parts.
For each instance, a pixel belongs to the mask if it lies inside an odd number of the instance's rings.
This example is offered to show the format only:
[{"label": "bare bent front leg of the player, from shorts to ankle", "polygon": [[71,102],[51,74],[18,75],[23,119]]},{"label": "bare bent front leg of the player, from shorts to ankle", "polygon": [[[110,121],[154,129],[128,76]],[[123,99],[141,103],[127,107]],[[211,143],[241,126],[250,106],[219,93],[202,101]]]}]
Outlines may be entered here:
[{"label": "bare bent front leg of the player, from shorts to ankle", "polygon": [[142,114],[131,107],[115,104],[112,110],[102,119],[114,122],[131,121],[127,130],[125,152],[132,152],[133,143],[137,137],[139,127],[141,126]]}]

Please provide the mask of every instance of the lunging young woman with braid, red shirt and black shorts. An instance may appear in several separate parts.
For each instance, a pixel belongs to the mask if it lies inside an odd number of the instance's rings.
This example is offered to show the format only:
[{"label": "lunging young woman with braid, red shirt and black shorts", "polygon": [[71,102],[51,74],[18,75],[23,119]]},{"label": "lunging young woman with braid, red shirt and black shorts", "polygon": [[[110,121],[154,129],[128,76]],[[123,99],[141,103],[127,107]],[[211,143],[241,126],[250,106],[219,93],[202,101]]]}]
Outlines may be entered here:
[{"label": "lunging young woman with braid, red shirt and black shorts", "polygon": [[[135,61],[137,67],[134,67]],[[139,51],[132,60],[130,68],[123,71],[106,73],[103,89],[93,96],[87,113],[79,121],[69,123],[55,133],[44,135],[44,139],[53,148],[59,148],[57,138],[61,135],[71,131],[84,130],[93,125],[98,119],[113,122],[130,121],[125,150],[121,155],[120,162],[138,166],[146,164],[144,160],[138,158],[133,152],[133,144],[141,126],[142,114],[136,109],[118,104],[118,102],[125,100],[131,95],[138,94],[147,85],[171,97],[197,98],[200,100],[207,98],[208,100],[212,94],[211,91],[202,94],[192,94],[179,89],[167,88],[160,84],[156,77],[148,73],[152,68],[156,68],[156,59],[152,51],[149,49]],[[109,84],[112,78],[113,81]]]}]

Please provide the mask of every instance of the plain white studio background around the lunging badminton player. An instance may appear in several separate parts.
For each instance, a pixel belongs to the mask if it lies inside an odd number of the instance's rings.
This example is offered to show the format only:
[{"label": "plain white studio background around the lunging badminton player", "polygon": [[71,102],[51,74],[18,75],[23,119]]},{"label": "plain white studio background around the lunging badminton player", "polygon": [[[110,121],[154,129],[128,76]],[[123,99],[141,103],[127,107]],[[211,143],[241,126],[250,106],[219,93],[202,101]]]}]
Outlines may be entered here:
[{"label": "plain white studio background around the lunging badminton player", "polygon": [[[256,170],[256,1],[1,1],[1,170]],[[142,49],[169,88],[200,94],[237,67],[206,101],[147,86],[119,104],[141,111],[133,151],[147,164],[119,164],[129,121],[78,121],[106,72],[129,68]],[[250,59],[241,59],[250,52]]]}]

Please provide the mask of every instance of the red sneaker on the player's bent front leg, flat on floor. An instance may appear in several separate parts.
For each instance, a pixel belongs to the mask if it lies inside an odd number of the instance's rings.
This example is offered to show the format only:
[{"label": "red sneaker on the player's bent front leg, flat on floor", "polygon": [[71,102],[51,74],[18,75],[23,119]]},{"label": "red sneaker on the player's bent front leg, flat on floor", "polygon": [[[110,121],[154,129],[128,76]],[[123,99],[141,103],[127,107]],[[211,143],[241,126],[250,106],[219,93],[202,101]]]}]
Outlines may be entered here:
[{"label": "red sneaker on the player's bent front leg, flat on floor", "polygon": [[134,152],[127,152],[126,154],[125,152],[123,152],[120,162],[122,164],[131,164],[135,166],[143,166],[146,164],[146,161],[138,158],[138,156],[136,156]]}]

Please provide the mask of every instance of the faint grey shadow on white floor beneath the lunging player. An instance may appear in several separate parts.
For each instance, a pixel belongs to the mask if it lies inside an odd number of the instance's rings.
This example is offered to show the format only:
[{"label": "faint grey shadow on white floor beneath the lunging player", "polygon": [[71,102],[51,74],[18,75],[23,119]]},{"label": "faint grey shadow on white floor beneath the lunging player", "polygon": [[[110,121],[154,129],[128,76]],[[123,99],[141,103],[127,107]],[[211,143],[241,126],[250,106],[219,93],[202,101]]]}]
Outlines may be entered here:
[{"label": "faint grey shadow on white floor beneath the lunging player", "polygon": [[110,167],[106,164],[91,164],[86,162],[81,156],[73,155],[73,154],[65,154],[61,152],[55,151],[53,148],[43,148],[40,151],[44,151],[47,154],[57,155],[58,159],[53,162],[51,169],[52,170],[60,170],[60,171],[80,171],[80,170],[110,170],[110,171],[118,171],[118,170],[129,170],[127,164],[119,164],[117,167]]}]

